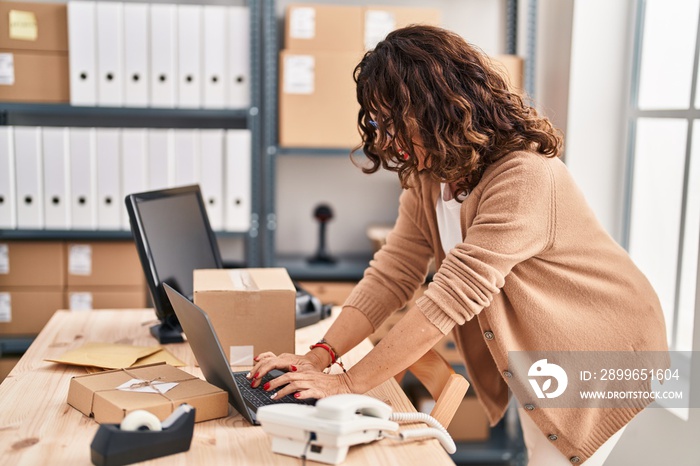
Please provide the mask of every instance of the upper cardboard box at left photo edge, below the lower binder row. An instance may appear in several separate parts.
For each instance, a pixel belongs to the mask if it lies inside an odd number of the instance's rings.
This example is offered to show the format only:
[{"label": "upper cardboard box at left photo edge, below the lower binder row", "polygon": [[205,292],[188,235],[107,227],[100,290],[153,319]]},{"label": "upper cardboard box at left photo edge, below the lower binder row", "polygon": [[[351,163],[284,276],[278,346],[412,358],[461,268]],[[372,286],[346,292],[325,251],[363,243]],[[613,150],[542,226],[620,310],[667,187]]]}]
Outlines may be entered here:
[{"label": "upper cardboard box at left photo edge, below the lower binder row", "polygon": [[0,242],[0,287],[62,287],[64,263],[60,241]]}]

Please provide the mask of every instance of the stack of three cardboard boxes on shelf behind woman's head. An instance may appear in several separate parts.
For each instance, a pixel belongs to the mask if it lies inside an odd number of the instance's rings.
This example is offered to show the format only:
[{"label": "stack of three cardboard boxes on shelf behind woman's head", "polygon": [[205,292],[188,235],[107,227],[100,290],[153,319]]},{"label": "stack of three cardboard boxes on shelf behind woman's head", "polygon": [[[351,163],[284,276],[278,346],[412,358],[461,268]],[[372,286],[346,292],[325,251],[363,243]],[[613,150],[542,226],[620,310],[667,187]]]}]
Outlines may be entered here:
[{"label": "stack of three cardboard boxes on shelf behind woman's head", "polygon": [[394,29],[439,25],[432,8],[290,4],[280,52],[279,143],[351,148],[359,144],[353,71]]}]

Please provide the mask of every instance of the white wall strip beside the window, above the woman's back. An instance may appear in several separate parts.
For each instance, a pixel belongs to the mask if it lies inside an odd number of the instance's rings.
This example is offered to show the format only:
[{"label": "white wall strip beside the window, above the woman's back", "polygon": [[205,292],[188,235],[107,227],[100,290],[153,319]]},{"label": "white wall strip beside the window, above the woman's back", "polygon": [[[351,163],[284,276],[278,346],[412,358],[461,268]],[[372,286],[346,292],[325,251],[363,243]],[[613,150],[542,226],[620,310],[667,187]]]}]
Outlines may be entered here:
[{"label": "white wall strip beside the window, above the woman's back", "polygon": [[608,232],[622,236],[632,1],[576,2],[566,163]]}]

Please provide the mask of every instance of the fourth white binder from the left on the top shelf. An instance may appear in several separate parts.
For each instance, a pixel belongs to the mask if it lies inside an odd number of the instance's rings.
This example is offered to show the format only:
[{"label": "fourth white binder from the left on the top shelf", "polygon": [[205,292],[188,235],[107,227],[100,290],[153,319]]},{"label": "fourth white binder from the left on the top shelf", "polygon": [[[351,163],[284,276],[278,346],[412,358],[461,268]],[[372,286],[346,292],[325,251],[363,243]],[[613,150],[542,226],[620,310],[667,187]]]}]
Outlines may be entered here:
[{"label": "fourth white binder from the left on the top shelf", "polygon": [[177,7],[150,5],[150,105],[175,107],[177,98]]}]

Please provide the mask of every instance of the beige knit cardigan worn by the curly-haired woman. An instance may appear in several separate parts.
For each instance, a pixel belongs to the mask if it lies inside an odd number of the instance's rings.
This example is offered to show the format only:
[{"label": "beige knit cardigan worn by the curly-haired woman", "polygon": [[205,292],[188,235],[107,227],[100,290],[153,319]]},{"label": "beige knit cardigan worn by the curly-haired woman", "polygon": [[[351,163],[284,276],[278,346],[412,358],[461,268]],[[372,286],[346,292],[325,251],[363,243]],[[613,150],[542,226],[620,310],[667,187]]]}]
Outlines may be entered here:
[{"label": "beige knit cardigan worn by the curly-haired woman", "polygon": [[[515,152],[490,166],[462,204],[464,242],[447,257],[435,213],[439,183],[418,178],[345,306],[377,328],[412,297],[434,257],[437,272],[416,305],[443,333],[453,330],[492,425],[505,413],[508,384],[527,376],[505,372],[508,351],[668,349],[656,293],[561,160]],[[572,463],[648,404],[538,409],[537,398],[519,401]]]}]

